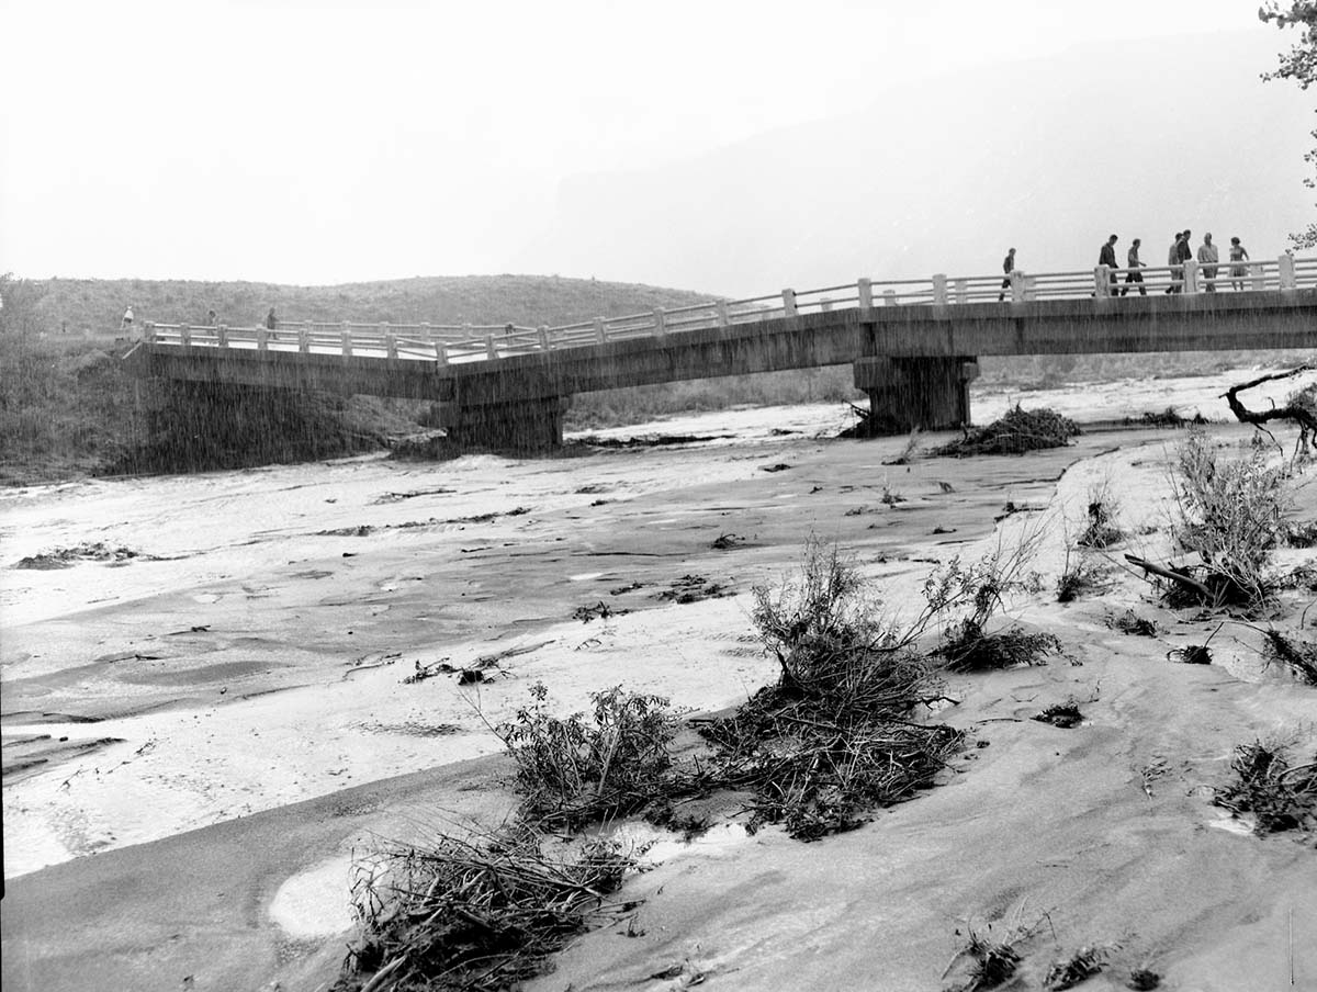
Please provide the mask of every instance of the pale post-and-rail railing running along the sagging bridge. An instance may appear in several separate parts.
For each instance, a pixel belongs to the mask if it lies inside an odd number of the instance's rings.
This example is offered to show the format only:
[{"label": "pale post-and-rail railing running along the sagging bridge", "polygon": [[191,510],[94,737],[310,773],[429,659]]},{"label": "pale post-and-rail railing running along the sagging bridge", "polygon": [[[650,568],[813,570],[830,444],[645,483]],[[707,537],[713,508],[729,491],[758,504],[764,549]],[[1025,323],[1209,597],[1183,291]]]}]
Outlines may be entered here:
[{"label": "pale post-and-rail railing running along the sagging bridge", "polygon": [[[1212,273],[1212,270],[1216,270]],[[1126,282],[1137,273],[1141,282]],[[1209,274],[1212,273],[1212,274]],[[1317,289],[1317,257],[1277,260],[1229,258],[1204,266],[1184,265],[1138,269],[1079,269],[1060,273],[1015,271],[997,275],[932,275],[927,279],[868,279],[814,290],[782,290],[765,296],[707,300],[672,310],[652,310],[616,317],[564,324],[366,324],[298,321],[266,327],[213,327],[146,324],[155,344],[192,348],[232,348],[302,352],[382,358],[475,362],[514,354],[585,348],[716,327],[735,327],[802,314],[888,306],[1010,306],[1047,299],[1112,298],[1130,292],[1238,292]]]}]

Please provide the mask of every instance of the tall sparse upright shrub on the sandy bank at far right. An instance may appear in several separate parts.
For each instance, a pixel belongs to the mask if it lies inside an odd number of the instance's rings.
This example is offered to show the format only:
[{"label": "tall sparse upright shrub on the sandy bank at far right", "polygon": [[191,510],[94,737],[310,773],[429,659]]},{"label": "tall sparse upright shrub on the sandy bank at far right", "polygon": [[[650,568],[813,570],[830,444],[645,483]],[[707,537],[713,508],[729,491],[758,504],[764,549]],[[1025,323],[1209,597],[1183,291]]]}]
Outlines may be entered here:
[{"label": "tall sparse upright shrub on the sandy bank at far right", "polygon": [[1162,572],[1171,605],[1255,609],[1271,595],[1272,549],[1284,540],[1287,469],[1262,444],[1237,458],[1220,457],[1206,435],[1191,429],[1172,473],[1176,543],[1201,566]]}]

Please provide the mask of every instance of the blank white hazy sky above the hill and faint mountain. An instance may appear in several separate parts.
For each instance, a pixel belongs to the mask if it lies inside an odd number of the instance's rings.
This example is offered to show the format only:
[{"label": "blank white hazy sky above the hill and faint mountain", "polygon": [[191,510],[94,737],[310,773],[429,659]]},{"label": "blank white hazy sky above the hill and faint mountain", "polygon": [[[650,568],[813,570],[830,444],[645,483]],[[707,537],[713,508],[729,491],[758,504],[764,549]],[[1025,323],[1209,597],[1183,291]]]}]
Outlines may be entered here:
[{"label": "blank white hazy sky above the hill and faint mountain", "polygon": [[[0,0],[0,271],[506,271],[582,174],[698,158],[911,79],[1079,42],[1251,30],[1279,53],[1295,36],[1256,7]],[[1259,82],[1260,105],[1291,86]],[[1135,87],[1113,79],[1113,100]]]}]

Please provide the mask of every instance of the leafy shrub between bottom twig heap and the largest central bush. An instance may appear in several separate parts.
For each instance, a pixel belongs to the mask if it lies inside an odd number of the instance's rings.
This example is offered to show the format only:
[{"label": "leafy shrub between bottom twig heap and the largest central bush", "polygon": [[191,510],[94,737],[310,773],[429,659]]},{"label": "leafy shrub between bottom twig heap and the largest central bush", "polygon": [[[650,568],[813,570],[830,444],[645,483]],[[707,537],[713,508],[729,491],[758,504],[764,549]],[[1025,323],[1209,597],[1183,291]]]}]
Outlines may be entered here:
[{"label": "leafy shrub between bottom twig heap and the largest central bush", "polygon": [[673,789],[670,744],[678,718],[661,696],[591,693],[594,710],[549,715],[548,689],[499,725],[516,763],[524,815],[547,826],[576,827],[633,813]]}]

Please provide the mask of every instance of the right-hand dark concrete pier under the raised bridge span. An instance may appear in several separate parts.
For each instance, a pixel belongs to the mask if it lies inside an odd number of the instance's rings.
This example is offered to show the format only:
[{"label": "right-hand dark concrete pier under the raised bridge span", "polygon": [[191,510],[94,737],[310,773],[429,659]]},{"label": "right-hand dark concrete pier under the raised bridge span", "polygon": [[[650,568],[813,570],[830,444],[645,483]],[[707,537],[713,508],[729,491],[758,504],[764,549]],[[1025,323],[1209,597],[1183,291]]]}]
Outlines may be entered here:
[{"label": "right-hand dark concrete pier under the raised bridge span", "polygon": [[892,432],[944,431],[969,423],[969,383],[979,361],[956,357],[871,357],[855,362],[855,385],[869,394],[869,419]]}]

